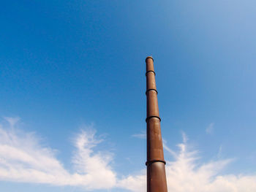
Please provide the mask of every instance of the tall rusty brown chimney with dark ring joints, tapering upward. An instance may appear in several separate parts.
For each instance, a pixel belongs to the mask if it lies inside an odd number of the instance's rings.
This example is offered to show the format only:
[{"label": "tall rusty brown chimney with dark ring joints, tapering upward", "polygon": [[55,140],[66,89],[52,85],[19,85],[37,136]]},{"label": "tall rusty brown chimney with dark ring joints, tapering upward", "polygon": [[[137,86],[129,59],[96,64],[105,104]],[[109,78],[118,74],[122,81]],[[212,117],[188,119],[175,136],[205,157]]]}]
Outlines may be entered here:
[{"label": "tall rusty brown chimney with dark ring joints, tapering upward", "polygon": [[167,192],[154,59],[146,58],[147,192]]}]

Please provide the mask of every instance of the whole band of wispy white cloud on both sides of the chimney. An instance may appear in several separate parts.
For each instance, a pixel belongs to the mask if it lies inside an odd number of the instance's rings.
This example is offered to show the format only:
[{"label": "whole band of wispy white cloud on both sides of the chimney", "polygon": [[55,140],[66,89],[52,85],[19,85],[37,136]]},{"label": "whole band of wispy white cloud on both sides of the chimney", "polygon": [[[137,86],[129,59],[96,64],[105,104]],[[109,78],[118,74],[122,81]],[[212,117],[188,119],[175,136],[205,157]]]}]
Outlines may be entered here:
[{"label": "whole band of wispy white cloud on both sides of the chimney", "polygon": [[[11,123],[12,122],[12,123]],[[72,158],[75,172],[64,169],[55,150],[43,147],[32,133],[0,125],[0,180],[23,183],[80,186],[84,190],[119,188],[128,191],[146,191],[146,169],[121,178],[110,162],[113,155],[95,150],[102,139],[95,131],[80,131],[75,138]],[[252,192],[256,191],[256,175],[222,174],[232,159],[200,163],[197,150],[189,150],[187,136],[178,144],[178,152],[164,142],[167,153],[174,160],[166,164],[168,191],[173,192]],[[220,149],[221,150],[221,149]]]}]

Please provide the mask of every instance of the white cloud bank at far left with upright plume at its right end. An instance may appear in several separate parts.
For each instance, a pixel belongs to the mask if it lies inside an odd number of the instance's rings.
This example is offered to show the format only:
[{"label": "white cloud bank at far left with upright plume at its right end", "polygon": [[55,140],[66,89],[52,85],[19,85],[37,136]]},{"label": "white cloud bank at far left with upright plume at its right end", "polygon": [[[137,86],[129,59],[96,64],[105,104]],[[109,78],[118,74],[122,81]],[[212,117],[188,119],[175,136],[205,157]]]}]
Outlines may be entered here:
[{"label": "white cloud bank at far left with upright plume at its right end", "polygon": [[[10,120],[8,118],[7,120]],[[11,120],[10,126],[15,123]],[[107,189],[116,185],[116,173],[110,161],[112,156],[95,153],[99,142],[94,131],[81,131],[75,139],[71,173],[56,158],[55,150],[42,147],[34,134],[15,128],[0,127],[0,180],[51,185],[76,185],[85,189]]]}]

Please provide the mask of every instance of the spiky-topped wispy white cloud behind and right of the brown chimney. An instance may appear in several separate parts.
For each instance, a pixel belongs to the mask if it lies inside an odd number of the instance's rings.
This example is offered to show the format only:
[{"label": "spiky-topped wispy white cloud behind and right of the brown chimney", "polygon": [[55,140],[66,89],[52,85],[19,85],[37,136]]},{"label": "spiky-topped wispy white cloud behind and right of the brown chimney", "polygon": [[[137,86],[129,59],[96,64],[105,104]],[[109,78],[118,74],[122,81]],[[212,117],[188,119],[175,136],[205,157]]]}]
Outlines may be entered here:
[{"label": "spiky-topped wispy white cloud behind and right of the brown chimney", "polygon": [[[174,161],[167,161],[166,175],[168,191],[173,192],[252,192],[256,191],[256,175],[221,174],[222,169],[232,159],[210,161],[199,164],[199,155],[196,150],[187,150],[187,137],[183,135],[183,143],[179,144],[179,151],[175,153],[167,147],[164,148],[174,157]],[[142,188],[132,188],[146,183],[139,179],[144,174],[129,176],[125,183],[132,191],[139,192]],[[134,180],[140,182],[140,185]],[[134,183],[134,184],[133,184]],[[124,188],[126,185],[123,185]],[[143,190],[145,191],[145,190]]]}]

